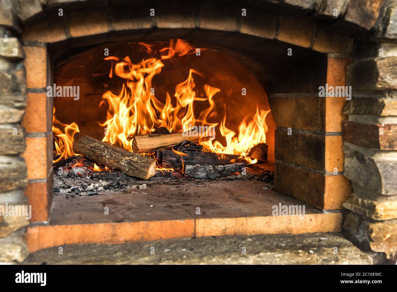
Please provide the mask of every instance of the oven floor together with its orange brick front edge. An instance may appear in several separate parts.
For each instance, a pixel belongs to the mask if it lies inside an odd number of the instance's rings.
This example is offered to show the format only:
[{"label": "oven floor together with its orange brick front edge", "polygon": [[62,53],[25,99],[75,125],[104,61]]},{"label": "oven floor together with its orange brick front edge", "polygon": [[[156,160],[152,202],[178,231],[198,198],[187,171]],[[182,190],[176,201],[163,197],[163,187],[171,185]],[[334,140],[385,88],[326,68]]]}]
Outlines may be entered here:
[{"label": "oven floor together with its orange brick front edge", "polygon": [[342,230],[342,213],[323,213],[308,205],[304,217],[273,216],[274,205],[304,203],[267,187],[265,182],[252,180],[167,180],[144,190],[69,198],[56,195],[49,225],[28,228],[28,249],[35,252],[65,244]]}]

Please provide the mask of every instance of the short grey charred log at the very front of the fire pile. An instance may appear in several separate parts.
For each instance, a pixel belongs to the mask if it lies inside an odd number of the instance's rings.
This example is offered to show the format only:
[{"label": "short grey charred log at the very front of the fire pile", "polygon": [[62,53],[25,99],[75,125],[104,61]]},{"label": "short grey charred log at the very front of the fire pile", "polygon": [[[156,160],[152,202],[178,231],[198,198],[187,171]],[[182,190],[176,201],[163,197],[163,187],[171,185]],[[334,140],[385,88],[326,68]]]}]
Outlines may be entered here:
[{"label": "short grey charred log at the very front of the fire pile", "polygon": [[243,172],[245,164],[243,162],[226,165],[186,165],[185,175],[193,178],[219,178],[229,176],[235,172]]}]

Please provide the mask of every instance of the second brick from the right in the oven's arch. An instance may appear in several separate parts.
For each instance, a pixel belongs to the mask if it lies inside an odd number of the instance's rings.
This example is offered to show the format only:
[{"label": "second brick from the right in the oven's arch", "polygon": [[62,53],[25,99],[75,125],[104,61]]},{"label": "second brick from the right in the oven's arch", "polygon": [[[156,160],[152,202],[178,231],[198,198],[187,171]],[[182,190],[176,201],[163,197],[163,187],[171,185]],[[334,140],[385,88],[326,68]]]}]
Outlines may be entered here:
[{"label": "second brick from the right in the oven's arch", "polygon": [[302,17],[281,17],[278,40],[309,48],[314,33],[314,21]]}]

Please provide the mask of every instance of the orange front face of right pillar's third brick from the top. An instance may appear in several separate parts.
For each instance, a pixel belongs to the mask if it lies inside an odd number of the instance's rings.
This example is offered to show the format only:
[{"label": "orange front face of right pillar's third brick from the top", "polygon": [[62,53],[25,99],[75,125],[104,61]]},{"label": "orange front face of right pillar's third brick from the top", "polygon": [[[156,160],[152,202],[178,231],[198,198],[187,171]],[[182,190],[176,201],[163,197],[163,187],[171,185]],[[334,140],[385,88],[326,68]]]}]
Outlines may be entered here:
[{"label": "orange front face of right pillar's third brick from the top", "polygon": [[327,172],[343,171],[343,140],[342,136],[325,137],[325,168]]}]

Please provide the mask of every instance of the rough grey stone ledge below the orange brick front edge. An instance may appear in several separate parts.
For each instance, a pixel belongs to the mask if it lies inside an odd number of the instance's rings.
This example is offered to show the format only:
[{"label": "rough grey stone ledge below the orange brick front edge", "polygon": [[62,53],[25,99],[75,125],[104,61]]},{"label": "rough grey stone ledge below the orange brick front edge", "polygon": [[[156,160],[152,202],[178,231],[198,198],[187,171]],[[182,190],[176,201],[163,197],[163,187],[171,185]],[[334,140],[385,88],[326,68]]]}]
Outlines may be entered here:
[{"label": "rough grey stone ledge below the orange brick front edge", "polygon": [[[154,247],[154,255],[150,248]],[[242,247],[247,254],[241,253]],[[334,254],[335,247],[337,254]],[[372,264],[372,259],[337,233],[208,236],[114,245],[42,249],[23,264]]]}]

